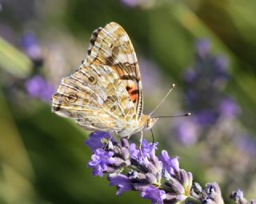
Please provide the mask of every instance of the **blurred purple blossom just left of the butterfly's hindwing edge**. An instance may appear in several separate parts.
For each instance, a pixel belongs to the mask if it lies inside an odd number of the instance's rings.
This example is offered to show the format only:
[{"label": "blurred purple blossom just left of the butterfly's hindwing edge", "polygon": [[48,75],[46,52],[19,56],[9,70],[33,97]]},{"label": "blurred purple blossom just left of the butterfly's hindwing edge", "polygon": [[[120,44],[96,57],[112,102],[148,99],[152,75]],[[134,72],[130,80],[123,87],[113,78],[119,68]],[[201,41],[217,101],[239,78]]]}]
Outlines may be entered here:
[{"label": "blurred purple blossom just left of the butterfly's hindwing edge", "polygon": [[41,76],[35,76],[26,81],[26,92],[32,97],[39,98],[45,102],[50,101],[54,93],[54,87]]}]

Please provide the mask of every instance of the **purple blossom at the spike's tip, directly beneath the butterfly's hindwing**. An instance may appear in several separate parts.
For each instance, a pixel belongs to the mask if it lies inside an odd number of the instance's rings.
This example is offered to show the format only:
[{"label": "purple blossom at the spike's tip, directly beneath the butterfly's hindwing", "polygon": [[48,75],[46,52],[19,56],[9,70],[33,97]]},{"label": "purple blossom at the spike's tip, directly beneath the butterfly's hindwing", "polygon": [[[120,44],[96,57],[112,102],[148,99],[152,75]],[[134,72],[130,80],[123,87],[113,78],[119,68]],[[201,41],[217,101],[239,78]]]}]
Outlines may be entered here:
[{"label": "purple blossom at the spike's tip, directly beneath the butterfly's hindwing", "polygon": [[103,139],[108,141],[111,135],[105,131],[94,131],[90,134],[90,138],[86,140],[86,145],[90,147],[90,150],[95,152],[98,148],[103,148]]}]

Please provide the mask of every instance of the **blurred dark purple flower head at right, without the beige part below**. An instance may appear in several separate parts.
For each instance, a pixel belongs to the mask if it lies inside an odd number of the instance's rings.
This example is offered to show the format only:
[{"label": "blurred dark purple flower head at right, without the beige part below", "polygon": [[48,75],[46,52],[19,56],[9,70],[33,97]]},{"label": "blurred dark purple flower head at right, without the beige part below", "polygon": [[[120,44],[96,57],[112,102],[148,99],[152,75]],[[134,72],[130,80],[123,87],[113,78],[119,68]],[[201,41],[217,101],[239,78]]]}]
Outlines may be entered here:
[{"label": "blurred dark purple flower head at right, without the beige part below", "polygon": [[[235,101],[222,92],[230,78],[227,59],[211,54],[206,39],[198,40],[195,58],[195,65],[186,69],[183,75],[184,101],[193,114],[189,122],[182,122],[174,128],[178,139],[186,145],[196,143],[201,132],[205,131],[203,128],[217,123],[220,117],[232,119],[239,114]],[[188,127],[190,131],[186,131]]]}]

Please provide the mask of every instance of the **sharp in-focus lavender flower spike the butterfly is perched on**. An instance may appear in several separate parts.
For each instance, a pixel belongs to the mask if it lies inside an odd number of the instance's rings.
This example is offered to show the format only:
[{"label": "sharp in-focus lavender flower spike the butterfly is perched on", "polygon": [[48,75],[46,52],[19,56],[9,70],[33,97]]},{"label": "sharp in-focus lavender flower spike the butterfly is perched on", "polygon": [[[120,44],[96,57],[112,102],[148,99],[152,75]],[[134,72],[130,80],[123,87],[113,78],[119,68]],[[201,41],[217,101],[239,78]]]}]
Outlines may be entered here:
[{"label": "sharp in-focus lavender flower spike the butterfly is perched on", "polygon": [[205,188],[193,184],[190,172],[179,167],[178,157],[162,151],[156,156],[157,143],[142,141],[142,151],[127,139],[118,143],[109,133],[90,134],[86,145],[93,151],[88,167],[93,175],[107,175],[110,186],[116,186],[117,195],[129,190],[139,191],[142,198],[152,203],[224,203],[216,182]]}]

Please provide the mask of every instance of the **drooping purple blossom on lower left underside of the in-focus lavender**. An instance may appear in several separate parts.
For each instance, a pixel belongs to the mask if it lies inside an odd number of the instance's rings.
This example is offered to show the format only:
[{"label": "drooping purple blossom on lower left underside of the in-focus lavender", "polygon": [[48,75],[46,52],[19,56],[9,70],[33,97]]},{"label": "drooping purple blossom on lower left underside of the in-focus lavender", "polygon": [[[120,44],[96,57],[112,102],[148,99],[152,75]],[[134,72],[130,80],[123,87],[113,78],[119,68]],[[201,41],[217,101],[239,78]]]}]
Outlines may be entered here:
[{"label": "drooping purple blossom on lower left underside of the in-focus lavender", "polygon": [[110,186],[117,186],[117,195],[120,196],[123,192],[132,190],[130,179],[126,175],[108,175]]}]

